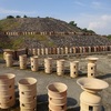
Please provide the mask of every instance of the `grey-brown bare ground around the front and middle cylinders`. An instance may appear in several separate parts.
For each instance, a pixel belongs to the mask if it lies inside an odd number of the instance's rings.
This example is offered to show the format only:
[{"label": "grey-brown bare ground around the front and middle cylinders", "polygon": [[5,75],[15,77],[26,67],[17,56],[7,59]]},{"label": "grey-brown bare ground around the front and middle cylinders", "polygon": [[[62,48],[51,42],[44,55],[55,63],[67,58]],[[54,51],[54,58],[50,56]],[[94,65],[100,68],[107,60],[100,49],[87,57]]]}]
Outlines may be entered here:
[{"label": "grey-brown bare ground around the front and middle cylinders", "polygon": [[[109,83],[109,88],[102,90],[100,92],[102,97],[102,110],[103,111],[111,111],[111,57],[110,56],[90,56],[97,57],[99,60],[97,61],[97,78],[104,80]],[[56,72],[56,60],[53,60],[53,73],[46,74],[43,69],[43,60],[40,59],[39,61],[39,71],[32,72],[30,70],[30,65],[27,70],[20,70],[19,64],[16,61],[12,68],[7,68],[3,60],[0,60],[0,74],[4,73],[14,73],[16,74],[16,105],[8,109],[0,111],[20,111],[19,108],[19,91],[18,91],[18,81],[22,78],[32,77],[38,80],[37,83],[37,110],[38,111],[49,111],[48,109],[48,90],[47,85],[52,82],[62,82],[68,85],[68,102],[67,111],[80,111],[80,93],[83,91],[78,84],[77,80],[83,77],[87,77],[87,57],[71,57],[65,58],[65,72],[64,75],[58,77]],[[69,62],[70,61],[79,61],[79,77],[78,78],[70,78],[69,71]]]}]

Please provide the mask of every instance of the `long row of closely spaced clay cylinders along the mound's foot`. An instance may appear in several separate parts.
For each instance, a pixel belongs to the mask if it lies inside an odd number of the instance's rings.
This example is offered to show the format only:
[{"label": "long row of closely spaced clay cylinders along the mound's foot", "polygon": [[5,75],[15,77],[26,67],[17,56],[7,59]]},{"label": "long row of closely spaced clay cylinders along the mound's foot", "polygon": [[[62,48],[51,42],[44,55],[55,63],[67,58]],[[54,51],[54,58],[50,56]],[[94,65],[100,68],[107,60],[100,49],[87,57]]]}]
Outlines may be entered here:
[{"label": "long row of closely spaced clay cylinders along the mound's foot", "polygon": [[64,47],[64,48],[33,48],[29,49],[29,53],[33,56],[44,56],[44,54],[69,54],[69,53],[91,53],[111,51],[111,46],[95,46],[95,47]]}]

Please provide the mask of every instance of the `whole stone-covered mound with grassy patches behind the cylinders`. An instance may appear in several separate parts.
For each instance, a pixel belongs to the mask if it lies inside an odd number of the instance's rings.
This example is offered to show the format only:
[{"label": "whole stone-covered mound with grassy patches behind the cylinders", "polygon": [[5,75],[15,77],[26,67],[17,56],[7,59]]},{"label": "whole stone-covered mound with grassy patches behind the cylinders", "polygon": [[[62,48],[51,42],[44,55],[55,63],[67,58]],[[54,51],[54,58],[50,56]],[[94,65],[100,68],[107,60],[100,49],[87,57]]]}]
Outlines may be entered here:
[{"label": "whole stone-covered mound with grassy patches behind the cylinders", "polygon": [[[1,48],[38,47],[87,47],[111,46],[107,37],[83,30],[77,26],[53,18],[12,18],[0,20]],[[74,32],[75,34],[18,34],[6,36],[4,32]],[[91,33],[90,33],[91,32]],[[79,34],[82,33],[82,34]]]}]

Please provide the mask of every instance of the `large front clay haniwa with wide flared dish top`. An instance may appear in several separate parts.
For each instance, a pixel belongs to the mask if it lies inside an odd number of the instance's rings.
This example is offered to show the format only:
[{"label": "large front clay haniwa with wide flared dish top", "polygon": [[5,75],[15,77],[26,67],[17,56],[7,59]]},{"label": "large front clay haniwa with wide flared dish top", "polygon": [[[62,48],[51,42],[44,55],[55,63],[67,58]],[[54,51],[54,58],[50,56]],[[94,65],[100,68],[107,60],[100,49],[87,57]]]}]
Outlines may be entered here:
[{"label": "large front clay haniwa with wide flared dish top", "polygon": [[109,84],[94,78],[81,78],[77,83],[84,90],[80,94],[80,111],[102,111],[102,98],[98,92]]}]

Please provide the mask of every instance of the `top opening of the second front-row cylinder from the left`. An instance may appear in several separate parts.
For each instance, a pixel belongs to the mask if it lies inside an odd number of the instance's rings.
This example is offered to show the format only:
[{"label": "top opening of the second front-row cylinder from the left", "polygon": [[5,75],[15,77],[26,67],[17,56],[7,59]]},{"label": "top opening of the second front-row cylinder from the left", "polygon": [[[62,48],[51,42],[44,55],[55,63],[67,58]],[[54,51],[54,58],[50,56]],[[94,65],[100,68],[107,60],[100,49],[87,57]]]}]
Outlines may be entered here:
[{"label": "top opening of the second front-row cylinder from the left", "polygon": [[36,83],[37,83],[37,80],[34,78],[26,78],[19,81],[19,84],[23,84],[23,85],[30,85],[30,84],[36,84]]}]

